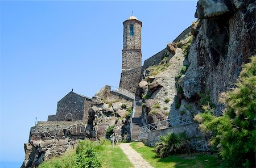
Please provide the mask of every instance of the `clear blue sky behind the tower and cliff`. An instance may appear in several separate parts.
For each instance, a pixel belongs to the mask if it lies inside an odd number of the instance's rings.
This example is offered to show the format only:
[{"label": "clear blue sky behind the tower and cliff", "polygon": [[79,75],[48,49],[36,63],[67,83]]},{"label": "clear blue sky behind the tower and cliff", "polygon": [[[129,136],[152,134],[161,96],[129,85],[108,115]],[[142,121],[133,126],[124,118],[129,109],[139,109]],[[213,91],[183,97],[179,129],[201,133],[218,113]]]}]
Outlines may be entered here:
[{"label": "clear blue sky behind the tower and cliff", "polygon": [[143,61],[196,20],[197,1],[0,1],[0,161],[24,159],[30,127],[71,89],[118,86],[123,25],[142,21]]}]

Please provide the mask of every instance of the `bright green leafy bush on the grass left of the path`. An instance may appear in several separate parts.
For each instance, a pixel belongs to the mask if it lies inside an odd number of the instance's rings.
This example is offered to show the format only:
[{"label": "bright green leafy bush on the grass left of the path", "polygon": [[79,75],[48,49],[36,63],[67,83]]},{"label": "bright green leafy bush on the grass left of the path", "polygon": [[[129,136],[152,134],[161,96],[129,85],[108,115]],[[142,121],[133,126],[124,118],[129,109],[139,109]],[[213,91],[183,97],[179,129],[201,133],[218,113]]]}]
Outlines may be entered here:
[{"label": "bright green leafy bush on the grass left of the path", "polygon": [[76,165],[77,168],[94,168],[102,167],[100,158],[97,156],[96,146],[92,141],[79,141],[76,148]]}]

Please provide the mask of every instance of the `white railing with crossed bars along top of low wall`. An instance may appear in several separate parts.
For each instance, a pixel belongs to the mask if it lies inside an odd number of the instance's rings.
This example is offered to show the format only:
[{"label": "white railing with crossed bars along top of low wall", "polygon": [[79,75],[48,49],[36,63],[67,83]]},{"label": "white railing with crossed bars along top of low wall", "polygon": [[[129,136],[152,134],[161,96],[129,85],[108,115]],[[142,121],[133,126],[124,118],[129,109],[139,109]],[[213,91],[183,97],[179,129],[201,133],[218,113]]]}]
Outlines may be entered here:
[{"label": "white railing with crossed bars along top of low wall", "polygon": [[170,127],[177,127],[185,124],[190,124],[192,123],[192,118],[191,117],[173,117],[168,120],[162,120],[158,121],[156,123],[144,125],[143,127],[139,128],[139,134],[144,134],[148,133],[150,131],[155,131],[159,129],[166,129]]}]

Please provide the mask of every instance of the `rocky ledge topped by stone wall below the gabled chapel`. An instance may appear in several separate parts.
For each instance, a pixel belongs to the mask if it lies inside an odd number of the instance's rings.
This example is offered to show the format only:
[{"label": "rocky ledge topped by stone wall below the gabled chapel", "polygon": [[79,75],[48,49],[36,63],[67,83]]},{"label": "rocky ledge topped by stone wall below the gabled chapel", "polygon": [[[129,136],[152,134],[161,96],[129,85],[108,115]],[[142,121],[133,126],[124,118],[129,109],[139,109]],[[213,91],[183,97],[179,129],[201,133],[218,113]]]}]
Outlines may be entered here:
[{"label": "rocky ledge topped by stone wall below the gabled chapel", "polygon": [[37,167],[43,161],[74,149],[77,140],[86,137],[85,125],[79,121],[39,121],[31,128],[22,167]]}]

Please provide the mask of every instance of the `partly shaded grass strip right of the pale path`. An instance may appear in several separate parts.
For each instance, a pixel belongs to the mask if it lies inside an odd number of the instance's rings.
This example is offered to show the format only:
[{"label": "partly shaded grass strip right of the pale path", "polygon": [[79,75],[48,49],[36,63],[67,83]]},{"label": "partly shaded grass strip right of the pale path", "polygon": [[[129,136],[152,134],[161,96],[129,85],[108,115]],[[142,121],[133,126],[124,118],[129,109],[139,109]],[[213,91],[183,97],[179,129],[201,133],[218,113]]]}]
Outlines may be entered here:
[{"label": "partly shaded grass strip right of the pale path", "polygon": [[142,155],[151,166],[155,168],[183,168],[183,167],[219,167],[220,162],[217,155],[193,153],[179,154],[167,158],[156,156],[154,148],[145,146],[142,142],[131,142],[131,147]]}]

